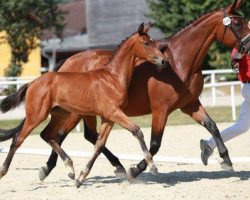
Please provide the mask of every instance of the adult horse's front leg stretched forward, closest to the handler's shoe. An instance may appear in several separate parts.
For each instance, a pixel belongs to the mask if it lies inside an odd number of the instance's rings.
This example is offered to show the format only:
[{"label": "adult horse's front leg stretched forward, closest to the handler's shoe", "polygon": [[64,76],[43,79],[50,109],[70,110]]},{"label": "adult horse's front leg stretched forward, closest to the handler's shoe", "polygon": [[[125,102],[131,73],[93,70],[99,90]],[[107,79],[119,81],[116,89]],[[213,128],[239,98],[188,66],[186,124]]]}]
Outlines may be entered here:
[{"label": "adult horse's front leg stretched forward, closest to the handler's shoe", "polygon": [[190,115],[196,122],[203,125],[213,136],[215,143],[218,147],[220,157],[223,158],[221,167],[224,170],[232,171],[232,162],[229,158],[228,150],[221,138],[220,131],[216,126],[216,123],[209,117],[200,101],[197,100],[182,108],[181,111]]}]

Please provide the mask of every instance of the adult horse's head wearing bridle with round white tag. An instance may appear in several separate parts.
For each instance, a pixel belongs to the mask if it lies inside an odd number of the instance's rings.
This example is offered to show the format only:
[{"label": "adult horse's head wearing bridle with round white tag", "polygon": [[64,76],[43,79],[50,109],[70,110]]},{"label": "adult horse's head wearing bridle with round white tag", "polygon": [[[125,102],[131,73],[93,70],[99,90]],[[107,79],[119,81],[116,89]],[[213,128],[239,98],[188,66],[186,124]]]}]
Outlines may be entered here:
[{"label": "adult horse's head wearing bridle with round white tag", "polygon": [[250,51],[250,28],[249,23],[238,14],[242,0],[235,2],[221,11],[221,23],[217,26],[217,40],[223,44],[236,47],[240,53]]}]

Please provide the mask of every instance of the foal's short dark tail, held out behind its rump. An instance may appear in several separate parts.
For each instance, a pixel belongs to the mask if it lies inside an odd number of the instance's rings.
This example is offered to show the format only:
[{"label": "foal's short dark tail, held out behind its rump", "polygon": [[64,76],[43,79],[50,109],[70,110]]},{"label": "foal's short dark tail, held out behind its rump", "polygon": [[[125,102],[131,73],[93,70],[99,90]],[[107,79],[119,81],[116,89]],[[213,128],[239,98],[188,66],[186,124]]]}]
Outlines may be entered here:
[{"label": "foal's short dark tail, held out behind its rump", "polygon": [[24,100],[28,87],[29,84],[27,83],[23,85],[17,92],[5,97],[0,103],[0,110],[3,113],[6,113],[10,109],[14,109],[19,106]]}]

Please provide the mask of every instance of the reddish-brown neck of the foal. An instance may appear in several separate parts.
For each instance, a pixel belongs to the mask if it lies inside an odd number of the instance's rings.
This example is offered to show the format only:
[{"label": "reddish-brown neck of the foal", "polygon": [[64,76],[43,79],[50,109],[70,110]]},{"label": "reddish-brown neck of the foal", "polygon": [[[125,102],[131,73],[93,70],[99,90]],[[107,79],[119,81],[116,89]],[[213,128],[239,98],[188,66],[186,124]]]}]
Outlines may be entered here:
[{"label": "reddish-brown neck of the foal", "polygon": [[124,89],[129,86],[135,66],[132,45],[130,41],[126,43],[128,44],[122,44],[106,68]]}]

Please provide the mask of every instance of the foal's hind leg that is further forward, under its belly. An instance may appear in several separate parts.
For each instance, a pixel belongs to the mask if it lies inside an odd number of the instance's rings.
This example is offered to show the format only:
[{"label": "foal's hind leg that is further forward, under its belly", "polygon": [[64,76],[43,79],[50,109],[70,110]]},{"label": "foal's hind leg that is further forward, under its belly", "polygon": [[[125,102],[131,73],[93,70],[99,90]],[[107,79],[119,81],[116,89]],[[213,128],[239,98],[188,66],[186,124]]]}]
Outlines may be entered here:
[{"label": "foal's hind leg that is further forward, under its belly", "polygon": [[[60,122],[63,123],[65,120],[67,120],[69,114],[68,113],[60,112],[60,116],[61,116]],[[54,121],[53,117],[56,117],[56,116],[52,115],[51,121]],[[71,179],[74,179],[75,178],[75,170],[74,170],[74,166],[73,166],[73,161],[66,154],[66,152],[60,147],[60,145],[58,144],[58,142],[57,142],[57,140],[58,140],[57,136],[58,136],[58,130],[57,129],[50,129],[50,126],[47,126],[45,128],[45,130],[41,133],[41,138],[44,141],[46,141],[53,148],[53,150],[61,157],[61,159],[65,163],[65,166],[70,169],[70,173],[68,174],[68,176]],[[42,179],[42,177],[41,177],[41,171],[40,171],[40,175],[39,176],[40,176],[40,179]]]}]

